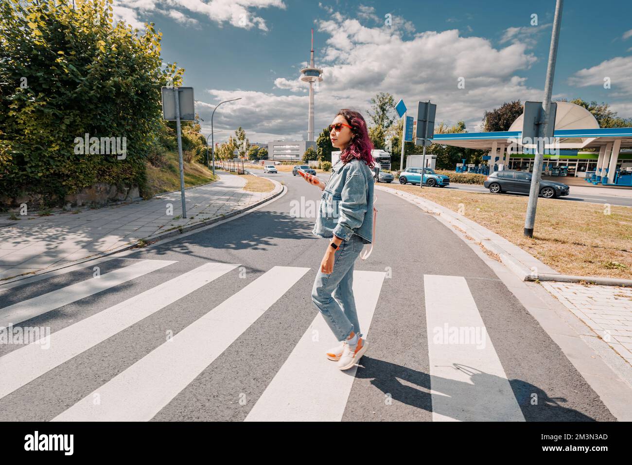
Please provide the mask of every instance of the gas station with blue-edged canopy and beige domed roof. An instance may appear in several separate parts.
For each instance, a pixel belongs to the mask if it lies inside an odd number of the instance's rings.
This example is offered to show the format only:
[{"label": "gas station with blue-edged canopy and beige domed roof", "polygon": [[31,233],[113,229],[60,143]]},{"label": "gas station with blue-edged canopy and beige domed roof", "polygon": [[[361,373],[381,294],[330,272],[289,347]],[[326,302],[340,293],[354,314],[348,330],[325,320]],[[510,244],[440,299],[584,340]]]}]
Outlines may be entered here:
[{"label": "gas station with blue-edged canopy and beige domed roof", "polygon": [[[585,108],[556,103],[556,144],[544,149],[557,149],[559,154],[545,151],[542,174],[586,178],[595,185],[632,187],[632,128],[600,128]],[[533,171],[534,146],[521,145],[522,125],[521,115],[508,131],[435,134],[432,142],[487,151],[486,165],[470,166],[468,171]]]}]

